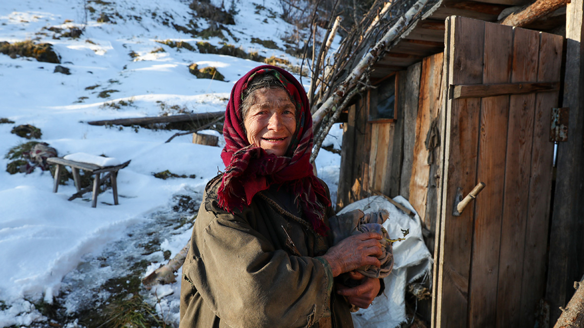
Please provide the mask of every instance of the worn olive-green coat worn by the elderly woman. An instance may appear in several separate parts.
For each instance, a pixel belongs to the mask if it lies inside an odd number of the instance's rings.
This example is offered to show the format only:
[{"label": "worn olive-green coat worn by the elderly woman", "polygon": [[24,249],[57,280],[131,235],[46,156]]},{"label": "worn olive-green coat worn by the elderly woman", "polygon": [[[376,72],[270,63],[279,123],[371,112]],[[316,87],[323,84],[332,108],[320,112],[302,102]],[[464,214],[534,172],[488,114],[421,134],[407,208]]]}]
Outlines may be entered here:
[{"label": "worn olive-green coat worn by the elderly woman", "polygon": [[220,182],[217,176],[207,184],[193,227],[180,327],[319,327],[320,320],[352,328],[350,306],[333,291],[331,268],[319,257],[331,240],[293,214],[283,191],[261,191],[235,214],[222,210]]}]

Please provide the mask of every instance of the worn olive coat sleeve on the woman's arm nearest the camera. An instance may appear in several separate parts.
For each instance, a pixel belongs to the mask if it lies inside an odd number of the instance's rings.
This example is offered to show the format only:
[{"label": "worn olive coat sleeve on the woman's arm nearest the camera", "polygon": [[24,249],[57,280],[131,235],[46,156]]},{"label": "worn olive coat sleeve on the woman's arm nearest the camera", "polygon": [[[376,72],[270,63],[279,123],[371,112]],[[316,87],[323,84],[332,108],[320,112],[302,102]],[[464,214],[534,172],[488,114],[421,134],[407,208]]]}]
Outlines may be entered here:
[{"label": "worn olive coat sleeve on the woman's arm nearest the camera", "polygon": [[311,326],[328,311],[331,268],[274,249],[248,215],[201,205],[183,274],[230,327]]}]

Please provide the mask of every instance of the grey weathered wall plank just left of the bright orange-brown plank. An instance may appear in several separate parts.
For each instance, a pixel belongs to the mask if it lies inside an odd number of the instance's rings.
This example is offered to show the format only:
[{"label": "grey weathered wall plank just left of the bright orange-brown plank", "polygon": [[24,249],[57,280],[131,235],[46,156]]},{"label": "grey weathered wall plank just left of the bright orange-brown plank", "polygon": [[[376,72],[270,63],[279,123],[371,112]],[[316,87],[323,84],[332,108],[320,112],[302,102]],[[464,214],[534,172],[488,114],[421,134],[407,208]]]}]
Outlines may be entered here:
[{"label": "grey weathered wall plank just left of the bright orange-brown plank", "polygon": [[405,91],[399,96],[404,99],[404,159],[401,164],[399,194],[409,200],[409,181],[412,177],[413,145],[416,139],[416,117],[418,117],[418,95],[422,63],[408,67]]}]

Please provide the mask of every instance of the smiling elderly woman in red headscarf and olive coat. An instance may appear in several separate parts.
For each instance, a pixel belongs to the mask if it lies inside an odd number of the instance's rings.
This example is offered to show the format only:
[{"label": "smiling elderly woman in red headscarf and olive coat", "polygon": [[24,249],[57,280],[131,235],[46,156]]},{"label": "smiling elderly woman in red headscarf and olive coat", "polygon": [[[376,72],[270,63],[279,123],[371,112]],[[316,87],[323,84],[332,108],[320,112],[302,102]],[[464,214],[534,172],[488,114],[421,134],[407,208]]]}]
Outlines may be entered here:
[{"label": "smiling elderly woman in red headscarf and olive coat", "polygon": [[[367,308],[381,288],[353,270],[380,266],[382,236],[332,246],[304,88],[281,68],[252,69],[235,83],[223,132],[226,169],[207,184],[194,224],[180,327],[353,327],[351,306]],[[359,284],[343,285],[347,277]]]}]

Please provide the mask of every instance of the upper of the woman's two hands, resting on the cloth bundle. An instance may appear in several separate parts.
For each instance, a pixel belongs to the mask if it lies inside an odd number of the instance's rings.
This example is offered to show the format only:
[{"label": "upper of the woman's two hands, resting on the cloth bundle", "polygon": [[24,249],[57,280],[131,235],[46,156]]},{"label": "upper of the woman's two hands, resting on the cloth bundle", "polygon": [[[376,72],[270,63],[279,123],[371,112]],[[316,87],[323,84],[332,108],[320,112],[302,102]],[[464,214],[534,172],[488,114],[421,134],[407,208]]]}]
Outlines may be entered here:
[{"label": "upper of the woman's two hands, resting on the cloth bundle", "polygon": [[381,266],[377,256],[381,256],[383,238],[376,232],[364,232],[349,236],[337,245],[329,248],[322,257],[331,266],[333,277],[346,273],[362,266]]}]

